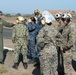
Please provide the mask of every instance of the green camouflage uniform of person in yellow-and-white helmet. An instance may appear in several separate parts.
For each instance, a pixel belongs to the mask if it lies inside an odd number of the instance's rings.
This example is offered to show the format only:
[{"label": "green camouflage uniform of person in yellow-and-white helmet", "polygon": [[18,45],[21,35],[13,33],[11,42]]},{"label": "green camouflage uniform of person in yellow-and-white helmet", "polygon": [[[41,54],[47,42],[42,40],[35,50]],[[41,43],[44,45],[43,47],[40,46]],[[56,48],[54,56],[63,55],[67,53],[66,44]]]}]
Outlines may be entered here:
[{"label": "green camouflage uniform of person in yellow-and-white helmet", "polygon": [[22,52],[23,62],[27,62],[27,45],[29,41],[28,29],[23,24],[17,24],[13,27],[12,42],[15,44],[14,63],[18,63],[19,53]]}]

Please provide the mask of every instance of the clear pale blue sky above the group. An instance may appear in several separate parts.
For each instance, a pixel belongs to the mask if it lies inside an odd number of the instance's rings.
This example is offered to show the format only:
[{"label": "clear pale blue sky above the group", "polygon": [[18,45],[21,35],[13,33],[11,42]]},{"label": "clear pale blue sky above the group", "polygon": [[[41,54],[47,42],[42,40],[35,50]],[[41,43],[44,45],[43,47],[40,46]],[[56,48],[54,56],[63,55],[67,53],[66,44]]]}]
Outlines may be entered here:
[{"label": "clear pale blue sky above the group", "polygon": [[0,0],[0,10],[4,13],[31,14],[38,8],[76,11],[76,0]]}]

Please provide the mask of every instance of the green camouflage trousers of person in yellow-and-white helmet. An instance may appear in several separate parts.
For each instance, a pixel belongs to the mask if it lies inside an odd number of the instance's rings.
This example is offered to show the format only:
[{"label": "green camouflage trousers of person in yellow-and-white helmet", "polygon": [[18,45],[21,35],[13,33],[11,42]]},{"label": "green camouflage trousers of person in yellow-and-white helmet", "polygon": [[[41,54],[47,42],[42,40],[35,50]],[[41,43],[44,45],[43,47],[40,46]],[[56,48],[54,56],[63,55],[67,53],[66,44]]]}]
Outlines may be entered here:
[{"label": "green camouflage trousers of person in yellow-and-white helmet", "polygon": [[26,56],[27,46],[26,45],[21,46],[21,45],[17,45],[17,44],[15,44],[15,50],[14,50],[14,63],[18,63],[20,51],[23,55],[23,62],[27,63],[28,62],[28,59]]}]

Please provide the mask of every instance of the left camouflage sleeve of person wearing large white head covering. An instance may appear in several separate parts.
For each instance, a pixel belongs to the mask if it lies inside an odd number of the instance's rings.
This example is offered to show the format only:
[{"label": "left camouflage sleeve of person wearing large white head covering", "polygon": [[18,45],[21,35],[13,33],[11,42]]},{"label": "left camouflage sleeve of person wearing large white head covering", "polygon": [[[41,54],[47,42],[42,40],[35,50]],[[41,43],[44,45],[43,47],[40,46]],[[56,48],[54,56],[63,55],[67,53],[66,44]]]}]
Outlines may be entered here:
[{"label": "left camouflage sleeve of person wearing large white head covering", "polygon": [[40,47],[44,46],[44,41],[45,41],[44,35],[45,35],[44,29],[41,29],[37,35],[37,45]]}]

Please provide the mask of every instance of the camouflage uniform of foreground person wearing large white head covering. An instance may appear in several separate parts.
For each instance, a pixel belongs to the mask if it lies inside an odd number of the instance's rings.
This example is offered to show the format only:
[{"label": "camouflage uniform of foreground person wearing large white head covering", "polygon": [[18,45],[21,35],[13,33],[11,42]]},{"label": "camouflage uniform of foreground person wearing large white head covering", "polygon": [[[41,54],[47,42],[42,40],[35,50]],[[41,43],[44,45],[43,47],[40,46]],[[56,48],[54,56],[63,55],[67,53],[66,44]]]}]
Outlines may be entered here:
[{"label": "camouflage uniform of foreground person wearing large white head covering", "polygon": [[37,44],[42,48],[39,53],[41,75],[55,74],[57,71],[57,49],[55,45],[57,30],[45,25],[37,36]]}]

